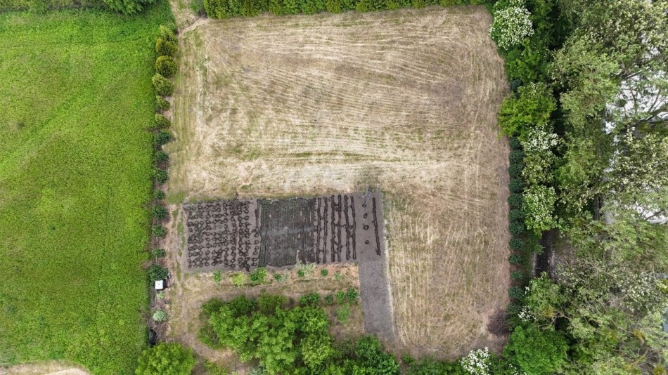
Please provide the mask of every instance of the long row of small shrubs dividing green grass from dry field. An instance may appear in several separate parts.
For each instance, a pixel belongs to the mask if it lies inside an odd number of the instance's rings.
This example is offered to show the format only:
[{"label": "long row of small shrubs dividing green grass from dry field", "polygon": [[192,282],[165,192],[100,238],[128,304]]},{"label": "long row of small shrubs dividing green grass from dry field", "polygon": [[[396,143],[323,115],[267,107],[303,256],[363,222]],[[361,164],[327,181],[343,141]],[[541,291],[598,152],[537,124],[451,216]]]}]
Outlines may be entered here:
[{"label": "long row of small shrubs dividing green grass from dry field", "polygon": [[[165,250],[160,249],[157,245],[160,238],[167,235],[167,228],[162,223],[169,220],[169,212],[164,204],[165,191],[161,186],[167,182],[169,174],[167,167],[169,166],[169,155],[162,150],[162,146],[172,140],[172,133],[169,133],[169,127],[172,122],[169,121],[165,112],[169,110],[171,104],[167,100],[169,96],[174,93],[174,85],[169,78],[174,77],[177,65],[174,60],[174,55],[178,49],[177,39],[174,32],[167,29],[167,27],[160,26],[160,37],[155,41],[155,74],[153,75],[153,87],[155,88],[155,119],[153,123],[153,162],[155,167],[153,169],[153,177],[155,179],[153,190],[153,203],[151,206],[151,215],[153,216],[153,224],[151,226],[151,235],[153,237],[152,244],[154,249],[152,251],[153,264],[148,268],[148,281],[150,282],[151,290],[155,281],[167,279],[169,271],[160,264],[160,259],[165,256]],[[164,292],[159,292],[155,295],[158,301],[165,298]],[[155,303],[159,305],[160,302]],[[160,308],[153,312],[154,322],[164,322],[167,320],[167,313]]]}]

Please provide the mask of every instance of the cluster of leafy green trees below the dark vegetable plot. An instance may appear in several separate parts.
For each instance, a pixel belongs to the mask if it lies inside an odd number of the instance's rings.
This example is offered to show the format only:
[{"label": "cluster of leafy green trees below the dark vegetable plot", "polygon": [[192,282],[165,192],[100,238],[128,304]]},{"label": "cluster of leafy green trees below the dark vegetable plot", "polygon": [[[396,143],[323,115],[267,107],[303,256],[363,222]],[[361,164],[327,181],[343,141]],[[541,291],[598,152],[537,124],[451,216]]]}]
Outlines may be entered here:
[{"label": "cluster of leafy green trees below the dark vegetable plot", "polygon": [[210,325],[200,338],[231,348],[243,362],[258,360],[266,374],[399,374],[397,360],[377,338],[335,342],[325,310],[304,302],[288,308],[287,298],[271,294],[209,301],[203,313]]}]

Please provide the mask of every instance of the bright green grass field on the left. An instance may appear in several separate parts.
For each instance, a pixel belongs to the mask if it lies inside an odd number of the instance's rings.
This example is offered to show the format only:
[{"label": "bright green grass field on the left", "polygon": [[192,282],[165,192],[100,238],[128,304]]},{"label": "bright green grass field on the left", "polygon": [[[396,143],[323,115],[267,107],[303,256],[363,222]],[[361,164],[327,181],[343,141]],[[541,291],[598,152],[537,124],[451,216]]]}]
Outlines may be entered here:
[{"label": "bright green grass field on the left", "polygon": [[163,1],[0,13],[0,365],[133,373],[146,346],[153,42]]}]

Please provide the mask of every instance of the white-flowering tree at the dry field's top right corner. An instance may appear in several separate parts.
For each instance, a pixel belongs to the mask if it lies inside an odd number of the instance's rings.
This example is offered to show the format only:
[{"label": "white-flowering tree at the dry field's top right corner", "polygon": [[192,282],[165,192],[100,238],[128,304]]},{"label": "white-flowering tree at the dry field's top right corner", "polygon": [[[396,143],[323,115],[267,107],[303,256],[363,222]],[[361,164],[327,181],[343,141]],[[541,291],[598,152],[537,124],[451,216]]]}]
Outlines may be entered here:
[{"label": "white-flowering tree at the dry field's top right corner", "polygon": [[534,34],[531,13],[524,0],[499,1],[494,4],[494,23],[489,34],[499,48],[508,50],[522,43],[522,39]]}]

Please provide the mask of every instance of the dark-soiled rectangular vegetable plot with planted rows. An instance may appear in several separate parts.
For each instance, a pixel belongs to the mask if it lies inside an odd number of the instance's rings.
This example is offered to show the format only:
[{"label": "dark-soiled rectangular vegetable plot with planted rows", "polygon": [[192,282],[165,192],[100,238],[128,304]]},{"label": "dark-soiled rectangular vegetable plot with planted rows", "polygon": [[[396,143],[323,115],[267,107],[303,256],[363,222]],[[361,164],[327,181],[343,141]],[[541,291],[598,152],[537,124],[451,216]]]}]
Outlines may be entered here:
[{"label": "dark-soiled rectangular vegetable plot with planted rows", "polygon": [[184,204],[188,270],[246,270],[380,259],[377,193]]}]

